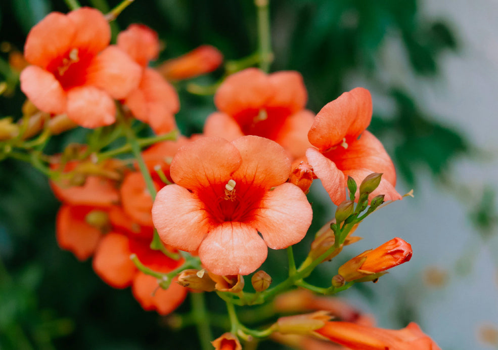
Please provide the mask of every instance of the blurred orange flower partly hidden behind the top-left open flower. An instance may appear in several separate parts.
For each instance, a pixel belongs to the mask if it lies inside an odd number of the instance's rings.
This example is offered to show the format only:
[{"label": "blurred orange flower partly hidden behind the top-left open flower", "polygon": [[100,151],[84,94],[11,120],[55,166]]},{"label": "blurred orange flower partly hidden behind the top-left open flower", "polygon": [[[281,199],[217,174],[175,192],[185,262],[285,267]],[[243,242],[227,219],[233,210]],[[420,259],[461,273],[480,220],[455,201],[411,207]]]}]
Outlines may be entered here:
[{"label": "blurred orange flower partly hidden behind the top-left open flower", "polygon": [[147,68],[159,54],[157,33],[144,25],[132,24],[118,35],[118,47],[143,67],[142,79],[124,99],[133,115],[148,123],[156,134],[165,134],[176,127],[174,114],[180,108],[178,95],[159,72]]}]

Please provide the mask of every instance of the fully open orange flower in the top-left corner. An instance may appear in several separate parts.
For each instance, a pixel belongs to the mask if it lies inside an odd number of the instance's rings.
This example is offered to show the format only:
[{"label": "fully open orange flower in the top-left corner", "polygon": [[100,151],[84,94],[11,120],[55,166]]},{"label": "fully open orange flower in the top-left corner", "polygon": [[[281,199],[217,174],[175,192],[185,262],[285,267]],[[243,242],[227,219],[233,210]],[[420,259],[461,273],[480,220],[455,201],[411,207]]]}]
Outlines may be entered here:
[{"label": "fully open orange flower in the top-left corner", "polygon": [[20,76],[21,90],[43,112],[66,113],[77,124],[112,124],[116,107],[137,87],[140,66],[115,46],[98,10],[52,12],[28,34],[24,56],[31,64]]}]

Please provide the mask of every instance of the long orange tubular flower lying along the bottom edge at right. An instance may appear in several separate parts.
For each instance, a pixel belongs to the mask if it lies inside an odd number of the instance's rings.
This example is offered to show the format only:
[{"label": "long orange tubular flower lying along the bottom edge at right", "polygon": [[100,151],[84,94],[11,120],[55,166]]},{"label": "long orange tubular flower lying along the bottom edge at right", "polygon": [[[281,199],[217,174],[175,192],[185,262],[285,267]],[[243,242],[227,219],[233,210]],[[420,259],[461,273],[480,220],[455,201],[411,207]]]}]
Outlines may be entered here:
[{"label": "long orange tubular flower lying along the bottom edge at right", "polygon": [[352,350],[441,350],[414,322],[399,330],[327,322],[316,332]]}]

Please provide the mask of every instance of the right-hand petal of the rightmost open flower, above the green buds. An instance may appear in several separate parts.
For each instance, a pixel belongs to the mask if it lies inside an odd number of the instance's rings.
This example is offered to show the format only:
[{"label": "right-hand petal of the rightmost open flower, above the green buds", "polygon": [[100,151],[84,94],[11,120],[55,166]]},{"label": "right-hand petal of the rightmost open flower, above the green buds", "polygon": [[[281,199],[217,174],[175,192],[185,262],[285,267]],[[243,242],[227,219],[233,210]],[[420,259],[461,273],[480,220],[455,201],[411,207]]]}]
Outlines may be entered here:
[{"label": "right-hand petal of the rightmost open flower, above the green buds", "polygon": [[325,156],[344,172],[368,169],[371,173],[382,173],[382,179],[389,181],[392,186],[396,185],[396,170],[391,158],[382,143],[368,131],[361,134],[359,139],[349,143],[347,149],[338,147],[326,153]]}]

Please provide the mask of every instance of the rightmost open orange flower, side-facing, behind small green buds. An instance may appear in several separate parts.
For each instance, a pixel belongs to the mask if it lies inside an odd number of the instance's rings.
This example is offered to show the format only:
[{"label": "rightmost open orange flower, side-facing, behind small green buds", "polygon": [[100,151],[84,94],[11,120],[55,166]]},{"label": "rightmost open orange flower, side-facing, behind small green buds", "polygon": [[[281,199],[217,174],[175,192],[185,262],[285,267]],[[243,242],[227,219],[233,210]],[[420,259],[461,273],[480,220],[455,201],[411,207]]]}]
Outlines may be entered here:
[{"label": "rightmost open orange flower, side-facing, behind small green buds", "polygon": [[346,199],[346,180],[361,183],[373,172],[383,173],[382,181],[370,198],[384,194],[385,200],[401,199],[396,192],[396,171],[379,140],[366,128],[372,119],[372,97],[356,87],[328,103],[316,115],[308,132],[315,146],[306,151],[313,171],[335,204]]}]

